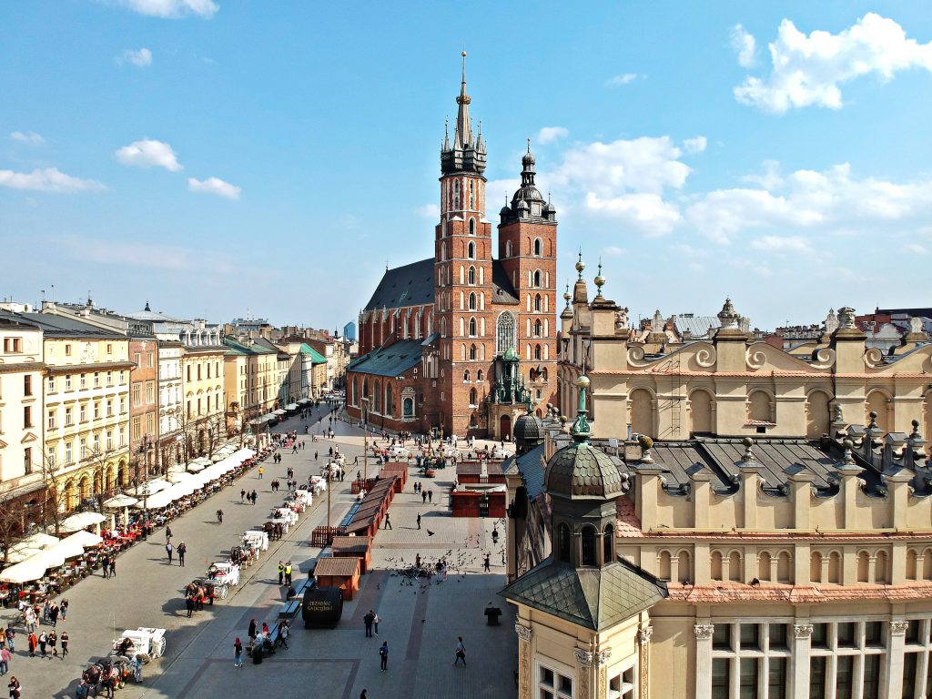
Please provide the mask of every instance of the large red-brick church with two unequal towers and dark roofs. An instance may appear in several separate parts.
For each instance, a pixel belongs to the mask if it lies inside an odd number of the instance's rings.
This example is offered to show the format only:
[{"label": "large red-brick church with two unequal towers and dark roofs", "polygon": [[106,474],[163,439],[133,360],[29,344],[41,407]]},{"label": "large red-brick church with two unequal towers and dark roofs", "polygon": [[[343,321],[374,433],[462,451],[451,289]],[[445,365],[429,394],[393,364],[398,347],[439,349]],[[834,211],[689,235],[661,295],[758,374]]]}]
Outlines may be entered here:
[{"label": "large red-brick church with two unequal towers and dark roofs", "polygon": [[387,268],[360,313],[347,409],[377,428],[505,438],[519,415],[556,403],[556,211],[534,183],[528,143],[493,257],[487,144],[481,125],[473,131],[462,55],[433,256]]}]

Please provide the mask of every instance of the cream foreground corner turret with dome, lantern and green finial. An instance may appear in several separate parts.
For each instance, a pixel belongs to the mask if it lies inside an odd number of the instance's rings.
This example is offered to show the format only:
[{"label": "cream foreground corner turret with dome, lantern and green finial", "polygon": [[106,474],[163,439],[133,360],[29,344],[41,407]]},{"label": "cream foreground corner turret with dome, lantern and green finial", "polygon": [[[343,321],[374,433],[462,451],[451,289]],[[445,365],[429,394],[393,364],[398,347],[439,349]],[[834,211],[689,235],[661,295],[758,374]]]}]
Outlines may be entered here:
[{"label": "cream foreground corner turret with dome, lantern and green finial", "polygon": [[559,688],[586,699],[649,697],[648,610],[667,595],[651,574],[619,557],[615,500],[626,473],[589,442],[585,394],[573,443],[547,464],[553,554],[500,593],[517,607],[518,699]]}]

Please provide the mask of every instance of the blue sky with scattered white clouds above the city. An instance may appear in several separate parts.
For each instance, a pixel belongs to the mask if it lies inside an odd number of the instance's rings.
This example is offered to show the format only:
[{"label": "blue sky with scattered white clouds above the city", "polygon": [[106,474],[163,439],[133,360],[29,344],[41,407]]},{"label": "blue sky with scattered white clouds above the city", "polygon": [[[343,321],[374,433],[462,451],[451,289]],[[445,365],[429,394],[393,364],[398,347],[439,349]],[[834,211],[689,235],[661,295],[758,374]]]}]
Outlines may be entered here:
[{"label": "blue sky with scattered white clouds above the city", "polygon": [[601,260],[635,321],[928,305],[924,3],[530,7],[0,3],[0,298],[342,329],[432,255],[465,48],[489,218],[530,138],[561,282]]}]

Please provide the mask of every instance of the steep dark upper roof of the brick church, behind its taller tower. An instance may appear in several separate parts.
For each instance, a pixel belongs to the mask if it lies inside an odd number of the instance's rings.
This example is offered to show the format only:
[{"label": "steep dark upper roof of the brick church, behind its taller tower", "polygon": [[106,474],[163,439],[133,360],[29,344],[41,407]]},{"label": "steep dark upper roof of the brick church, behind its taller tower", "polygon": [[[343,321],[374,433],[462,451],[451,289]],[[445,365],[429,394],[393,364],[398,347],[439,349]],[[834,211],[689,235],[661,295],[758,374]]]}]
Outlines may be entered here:
[{"label": "steep dark upper roof of the brick church, behind its taller tower", "polygon": [[[433,303],[432,257],[412,262],[404,267],[386,269],[376,291],[363,310],[405,308]],[[508,272],[500,260],[492,260],[492,303],[516,305],[520,303]]]}]

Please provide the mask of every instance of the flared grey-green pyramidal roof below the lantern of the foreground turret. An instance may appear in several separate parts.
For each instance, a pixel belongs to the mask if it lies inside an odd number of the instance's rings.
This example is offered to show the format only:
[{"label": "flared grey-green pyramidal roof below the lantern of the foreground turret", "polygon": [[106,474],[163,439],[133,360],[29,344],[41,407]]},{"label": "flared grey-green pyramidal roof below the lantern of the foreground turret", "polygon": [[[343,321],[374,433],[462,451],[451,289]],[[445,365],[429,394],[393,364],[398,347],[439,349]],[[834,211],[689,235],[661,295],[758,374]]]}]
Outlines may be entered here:
[{"label": "flared grey-green pyramidal roof below the lantern of the foreground turret", "polygon": [[601,631],[650,609],[666,585],[624,558],[605,568],[573,568],[544,559],[499,593],[516,604]]}]

